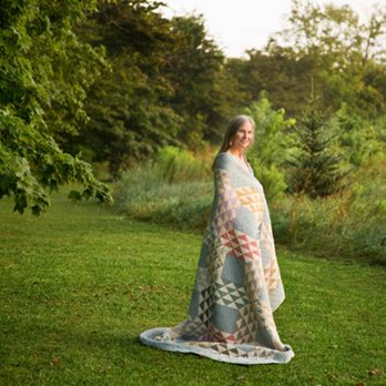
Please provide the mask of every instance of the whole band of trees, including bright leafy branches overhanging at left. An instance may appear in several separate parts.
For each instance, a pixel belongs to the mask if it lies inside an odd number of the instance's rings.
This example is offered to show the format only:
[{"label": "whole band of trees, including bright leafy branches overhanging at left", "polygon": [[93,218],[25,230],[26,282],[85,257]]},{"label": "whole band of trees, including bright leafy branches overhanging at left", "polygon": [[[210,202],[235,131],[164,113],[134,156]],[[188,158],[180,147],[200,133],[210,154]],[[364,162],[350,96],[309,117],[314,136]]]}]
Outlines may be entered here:
[{"label": "whole band of trees, including bright leafy branches overhanging at left", "polygon": [[226,58],[202,17],[169,20],[151,0],[4,0],[0,14],[0,196],[19,212],[39,213],[44,189],[71,181],[85,186],[74,200],[108,200],[82,160],[116,176],[165,145],[216,144],[258,99],[296,118],[312,84],[354,163],[370,152],[360,142],[385,142],[382,9],[363,22],[294,0],[287,28],[247,59]]}]

